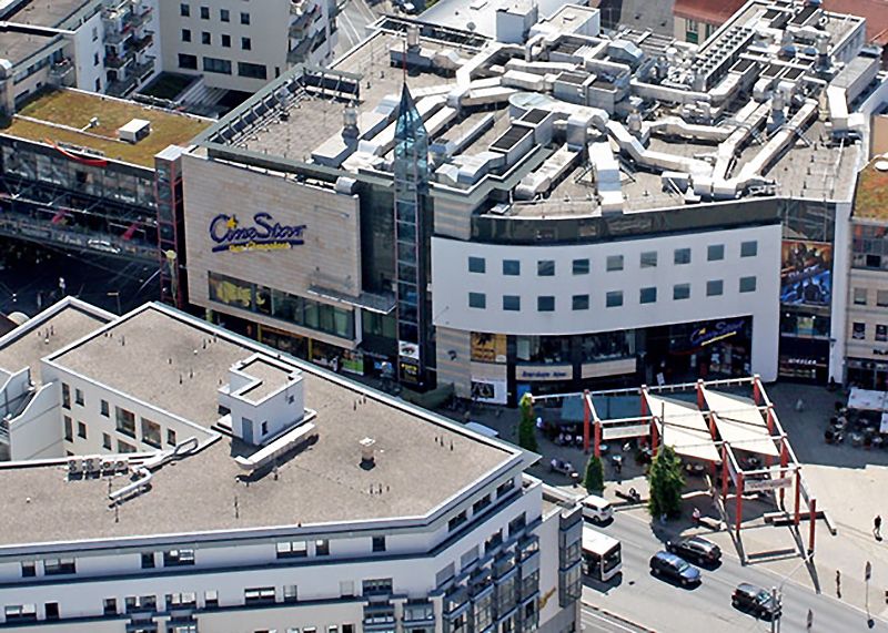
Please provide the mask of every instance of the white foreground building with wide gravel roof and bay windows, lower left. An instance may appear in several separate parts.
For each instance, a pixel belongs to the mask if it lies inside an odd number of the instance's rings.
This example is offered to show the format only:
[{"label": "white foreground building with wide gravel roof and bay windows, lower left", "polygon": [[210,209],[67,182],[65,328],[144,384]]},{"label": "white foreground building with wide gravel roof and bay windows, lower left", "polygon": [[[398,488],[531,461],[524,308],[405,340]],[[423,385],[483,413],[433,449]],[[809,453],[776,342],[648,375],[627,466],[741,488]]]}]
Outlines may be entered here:
[{"label": "white foreground building with wide gravel roof and bay windows, lower left", "polygon": [[515,447],[159,304],[0,367],[4,630],[576,630],[582,514]]}]

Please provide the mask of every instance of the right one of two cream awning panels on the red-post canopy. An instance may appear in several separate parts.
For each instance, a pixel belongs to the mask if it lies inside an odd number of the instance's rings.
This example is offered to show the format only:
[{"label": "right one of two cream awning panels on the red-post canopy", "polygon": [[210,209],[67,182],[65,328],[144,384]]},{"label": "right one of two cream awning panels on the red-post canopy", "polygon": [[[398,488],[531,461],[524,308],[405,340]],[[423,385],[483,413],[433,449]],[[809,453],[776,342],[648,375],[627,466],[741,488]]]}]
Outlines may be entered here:
[{"label": "right one of two cream awning panels on the red-post canopy", "polygon": [[706,406],[715,414],[718,435],[731,448],[779,457],[768,422],[751,398],[703,390]]}]

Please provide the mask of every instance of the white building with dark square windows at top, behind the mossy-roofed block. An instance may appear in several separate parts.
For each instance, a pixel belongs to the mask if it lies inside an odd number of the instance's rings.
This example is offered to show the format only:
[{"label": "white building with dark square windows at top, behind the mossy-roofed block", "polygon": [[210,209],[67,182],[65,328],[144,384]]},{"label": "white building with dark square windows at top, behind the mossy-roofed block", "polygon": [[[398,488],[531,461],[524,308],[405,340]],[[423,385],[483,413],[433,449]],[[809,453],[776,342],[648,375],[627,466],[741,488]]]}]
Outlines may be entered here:
[{"label": "white building with dark square windows at top, behind the mossy-roofed block", "polygon": [[163,68],[202,73],[209,88],[255,92],[293,64],[327,64],[336,11],[333,0],[164,2]]}]

